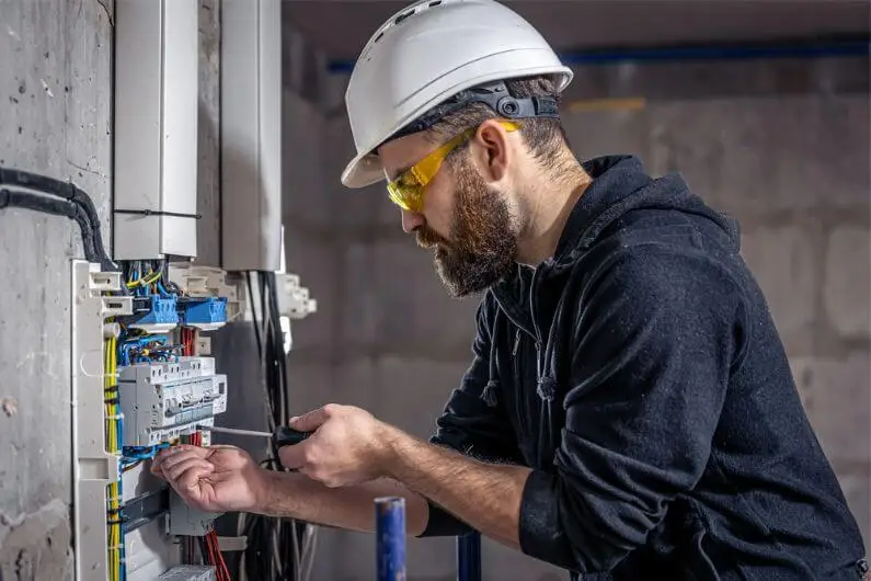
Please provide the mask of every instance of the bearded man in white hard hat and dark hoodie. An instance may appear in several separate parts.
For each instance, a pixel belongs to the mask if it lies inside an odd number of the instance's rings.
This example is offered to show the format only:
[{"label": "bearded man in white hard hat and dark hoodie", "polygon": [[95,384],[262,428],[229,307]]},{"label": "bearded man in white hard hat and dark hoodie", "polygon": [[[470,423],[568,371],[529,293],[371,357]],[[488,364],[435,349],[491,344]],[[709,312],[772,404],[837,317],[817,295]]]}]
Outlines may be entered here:
[{"label": "bearded man in white hard hat and dark hoodie", "polygon": [[860,579],[735,225],[678,175],[580,163],[558,115],[571,77],[491,0],[402,11],[352,75],[343,182],[387,175],[448,290],[484,292],[432,443],[328,406],[291,422],[313,431],[282,449],[297,474],[228,447],[153,470],[203,510],[359,531],[374,497],[401,494],[411,535],[471,527],[575,578]]}]

